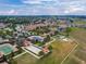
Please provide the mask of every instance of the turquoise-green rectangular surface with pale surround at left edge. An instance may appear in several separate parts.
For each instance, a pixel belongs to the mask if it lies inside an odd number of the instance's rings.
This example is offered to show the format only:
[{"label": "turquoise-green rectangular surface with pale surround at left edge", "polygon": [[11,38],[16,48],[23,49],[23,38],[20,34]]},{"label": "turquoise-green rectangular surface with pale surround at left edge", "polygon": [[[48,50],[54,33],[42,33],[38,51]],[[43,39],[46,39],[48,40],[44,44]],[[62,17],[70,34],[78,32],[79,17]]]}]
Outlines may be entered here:
[{"label": "turquoise-green rectangular surface with pale surround at left edge", "polygon": [[13,48],[11,44],[5,43],[5,44],[0,44],[0,52],[3,52],[4,55],[10,54],[13,51]]}]

